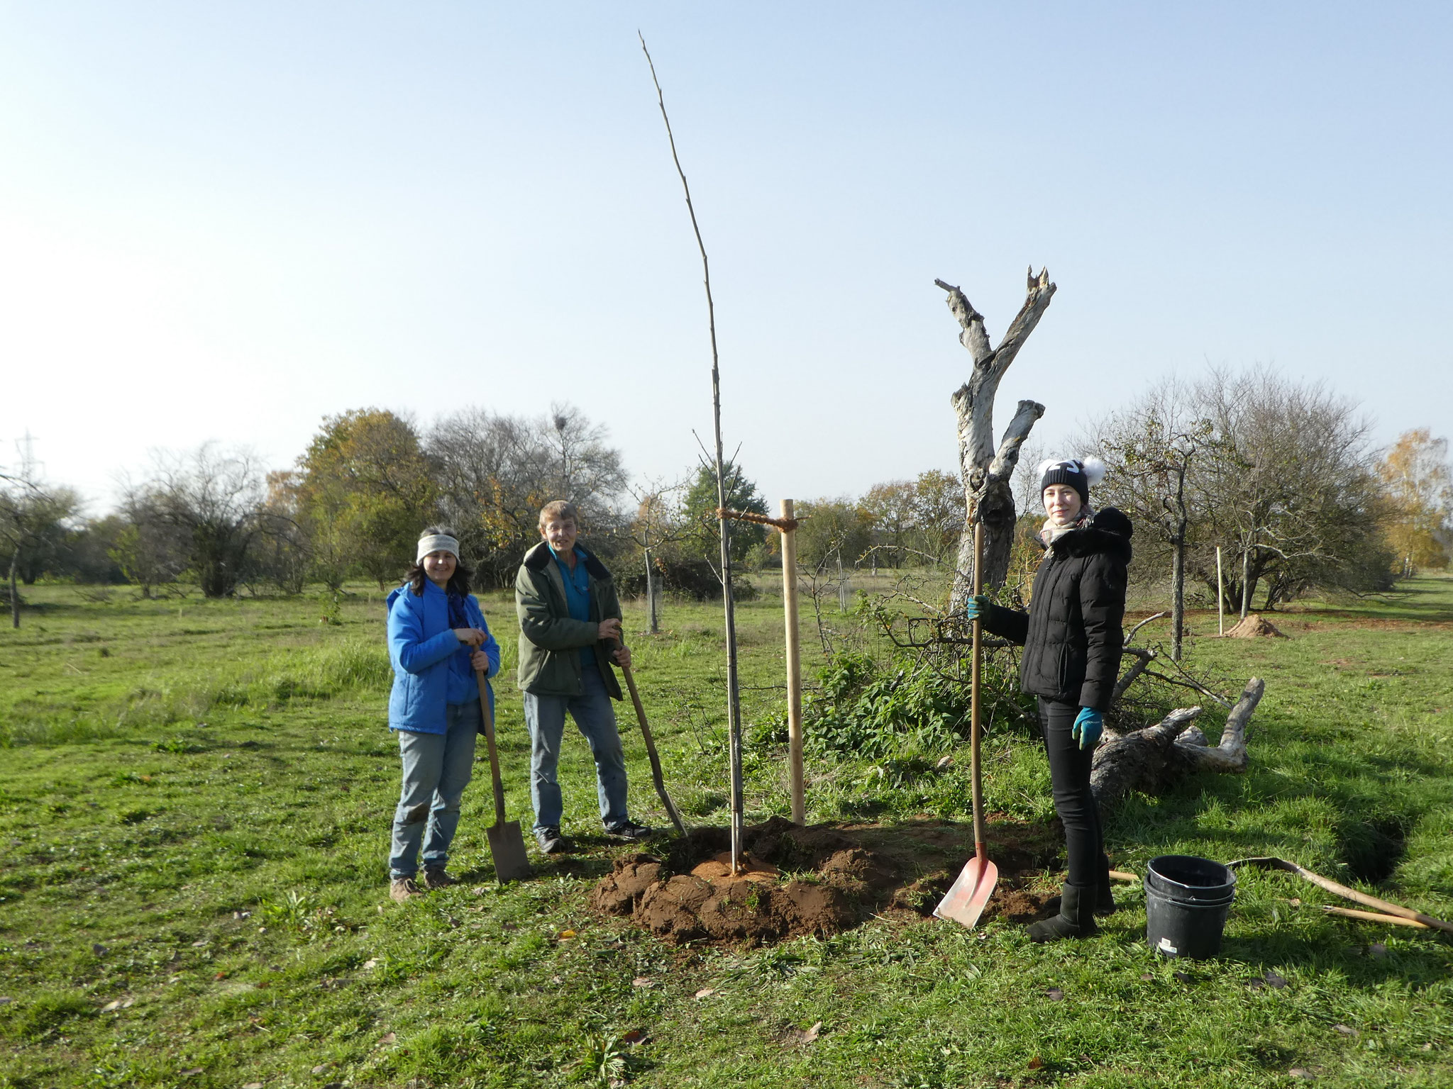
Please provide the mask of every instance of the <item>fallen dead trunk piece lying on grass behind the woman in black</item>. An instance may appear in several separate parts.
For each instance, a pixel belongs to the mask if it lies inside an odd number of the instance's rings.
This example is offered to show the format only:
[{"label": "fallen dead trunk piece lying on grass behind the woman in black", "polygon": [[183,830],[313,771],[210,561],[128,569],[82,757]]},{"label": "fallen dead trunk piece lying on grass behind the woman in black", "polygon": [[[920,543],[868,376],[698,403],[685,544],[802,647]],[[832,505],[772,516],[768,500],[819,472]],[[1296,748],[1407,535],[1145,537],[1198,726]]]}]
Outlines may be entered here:
[{"label": "fallen dead trunk piece lying on grass behind the woman in black", "polygon": [[1261,701],[1266,681],[1252,677],[1237,706],[1226,716],[1221,743],[1210,748],[1206,735],[1191,726],[1200,707],[1180,707],[1155,726],[1133,733],[1106,736],[1094,754],[1090,788],[1101,807],[1132,790],[1161,794],[1177,780],[1196,771],[1242,772],[1247,770],[1247,722]]}]

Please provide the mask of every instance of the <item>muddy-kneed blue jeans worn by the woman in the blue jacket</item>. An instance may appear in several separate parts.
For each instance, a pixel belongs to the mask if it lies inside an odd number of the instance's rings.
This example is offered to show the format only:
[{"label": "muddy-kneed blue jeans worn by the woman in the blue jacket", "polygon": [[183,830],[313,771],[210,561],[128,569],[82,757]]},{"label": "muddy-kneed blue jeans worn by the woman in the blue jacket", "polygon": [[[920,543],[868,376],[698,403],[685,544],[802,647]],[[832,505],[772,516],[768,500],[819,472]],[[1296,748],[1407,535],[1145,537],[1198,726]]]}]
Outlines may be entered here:
[{"label": "muddy-kneed blue jeans worn by the woman in the blue jacket", "polygon": [[389,877],[418,873],[420,842],[426,870],[442,868],[449,861],[449,844],[459,828],[459,800],[474,774],[474,742],[481,725],[479,701],[471,700],[449,704],[443,733],[398,730],[404,786],[394,810]]}]

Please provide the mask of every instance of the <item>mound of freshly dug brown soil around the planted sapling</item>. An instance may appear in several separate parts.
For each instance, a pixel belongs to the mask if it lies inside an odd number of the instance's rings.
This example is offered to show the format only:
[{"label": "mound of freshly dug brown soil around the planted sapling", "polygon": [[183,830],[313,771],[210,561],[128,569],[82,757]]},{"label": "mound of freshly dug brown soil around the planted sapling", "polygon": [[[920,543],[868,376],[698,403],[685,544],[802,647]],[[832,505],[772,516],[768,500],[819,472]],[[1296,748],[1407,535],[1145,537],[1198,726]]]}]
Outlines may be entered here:
[{"label": "mound of freshly dug brown soil around the planted sapling", "polygon": [[[991,817],[989,857],[1000,883],[984,918],[1027,922],[1046,913],[1058,881],[1046,876],[1062,851],[1058,823]],[[828,823],[798,828],[783,817],[745,829],[747,867],[731,874],[725,828],[697,828],[668,858],[632,854],[590,894],[606,915],[629,915],[676,944],[750,944],[835,934],[872,915],[930,915],[974,854],[968,823]]]}]

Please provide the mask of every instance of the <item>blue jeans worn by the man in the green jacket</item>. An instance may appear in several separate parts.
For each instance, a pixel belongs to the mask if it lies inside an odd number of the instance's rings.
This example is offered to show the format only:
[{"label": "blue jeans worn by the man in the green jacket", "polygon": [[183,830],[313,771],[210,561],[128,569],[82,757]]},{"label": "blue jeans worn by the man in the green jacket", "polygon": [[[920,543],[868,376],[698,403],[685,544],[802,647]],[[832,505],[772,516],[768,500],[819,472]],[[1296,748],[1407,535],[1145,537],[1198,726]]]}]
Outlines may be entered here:
[{"label": "blue jeans worn by the man in the green jacket", "polygon": [[565,738],[565,711],[590,742],[596,758],[596,794],[600,823],[615,828],[626,820],[626,758],[616,730],[616,710],[606,694],[606,682],[594,666],[580,674],[580,696],[535,696],[525,693],[525,725],[530,730],[530,803],[535,828],[559,828],[565,803],[555,770],[559,745]]}]

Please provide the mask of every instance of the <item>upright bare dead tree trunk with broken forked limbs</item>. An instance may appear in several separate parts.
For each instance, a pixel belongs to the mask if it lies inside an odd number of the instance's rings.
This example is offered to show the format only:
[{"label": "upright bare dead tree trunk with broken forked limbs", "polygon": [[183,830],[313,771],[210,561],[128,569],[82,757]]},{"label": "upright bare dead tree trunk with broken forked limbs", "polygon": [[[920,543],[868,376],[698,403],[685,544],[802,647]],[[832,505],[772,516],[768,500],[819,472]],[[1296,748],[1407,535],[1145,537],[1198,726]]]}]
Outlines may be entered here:
[{"label": "upright bare dead tree trunk with broken forked limbs", "polygon": [[1014,494],[1010,478],[1019,463],[1019,447],[1024,443],[1035,421],[1045,414],[1045,407],[1036,401],[1020,401],[998,447],[994,446],[994,395],[1000,379],[1014,362],[1014,356],[1035,331],[1040,317],[1055,295],[1049,273],[1029,270],[1029,290],[1024,305],[1010,322],[1004,340],[997,348],[989,347],[984,330],[984,315],[979,314],[958,287],[934,280],[949,292],[949,309],[959,319],[962,331],[959,343],[974,357],[974,373],[953,393],[953,411],[959,421],[959,476],[963,481],[963,502],[968,518],[959,534],[959,556],[953,574],[953,597],[950,608],[959,611],[974,592],[974,523],[984,521],[984,585],[1004,585],[1008,574],[1008,553],[1014,543]]}]

